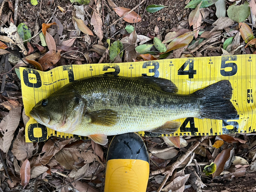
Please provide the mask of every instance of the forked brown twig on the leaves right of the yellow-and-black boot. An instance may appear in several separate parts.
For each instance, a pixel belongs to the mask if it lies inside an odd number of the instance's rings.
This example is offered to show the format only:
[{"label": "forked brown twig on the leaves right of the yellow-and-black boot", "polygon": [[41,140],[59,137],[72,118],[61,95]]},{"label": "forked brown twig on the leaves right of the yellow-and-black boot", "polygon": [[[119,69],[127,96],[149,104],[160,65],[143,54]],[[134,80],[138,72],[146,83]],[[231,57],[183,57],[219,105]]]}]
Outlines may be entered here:
[{"label": "forked brown twig on the leaves right of the yellow-and-black boot", "polygon": [[[198,145],[205,140],[206,138],[208,138],[208,136],[203,136],[201,138],[200,141],[196,141],[195,143],[193,143],[193,145],[191,145],[189,147],[189,149],[186,151],[186,153],[184,155],[182,155],[175,163],[173,163],[172,165],[169,165],[163,169],[157,170],[155,172],[152,172],[152,175],[156,175],[160,174],[162,172],[164,172],[163,174],[166,174],[161,186],[159,187],[159,189],[157,190],[157,192],[160,192],[163,188],[163,186],[165,185],[166,181],[168,180],[169,176],[173,174],[174,170],[198,147]],[[160,173],[159,173],[160,171]]]}]

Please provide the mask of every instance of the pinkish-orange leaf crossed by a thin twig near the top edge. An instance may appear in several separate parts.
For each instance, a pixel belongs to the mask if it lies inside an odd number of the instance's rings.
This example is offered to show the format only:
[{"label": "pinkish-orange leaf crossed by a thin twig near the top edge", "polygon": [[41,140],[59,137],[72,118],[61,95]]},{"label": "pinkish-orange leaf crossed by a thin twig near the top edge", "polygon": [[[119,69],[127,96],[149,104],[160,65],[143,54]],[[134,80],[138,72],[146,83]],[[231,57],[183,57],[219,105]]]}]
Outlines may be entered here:
[{"label": "pinkish-orange leaf crossed by a thin twig near the top edge", "polygon": [[[116,14],[118,14],[119,17],[122,17],[125,13],[131,11],[131,9],[127,9],[124,7],[113,7],[114,11]],[[137,20],[138,17],[138,20]],[[123,17],[123,20],[128,23],[137,23],[141,21],[141,16],[137,14],[135,11],[132,11],[131,13],[127,14],[126,16]]]}]

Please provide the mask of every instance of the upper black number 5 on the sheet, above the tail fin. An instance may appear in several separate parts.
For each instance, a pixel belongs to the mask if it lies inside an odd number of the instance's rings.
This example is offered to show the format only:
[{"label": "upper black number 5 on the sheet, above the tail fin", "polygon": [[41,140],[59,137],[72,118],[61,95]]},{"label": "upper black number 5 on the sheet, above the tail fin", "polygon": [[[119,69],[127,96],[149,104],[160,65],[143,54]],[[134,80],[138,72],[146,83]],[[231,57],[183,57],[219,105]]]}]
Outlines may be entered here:
[{"label": "upper black number 5 on the sheet, above the tail fin", "polygon": [[[229,61],[236,61],[237,55],[230,55],[230,56],[222,56],[221,58],[221,75],[222,76],[232,76],[236,75],[238,72],[238,66],[234,62]],[[228,68],[228,69],[227,69]],[[231,69],[231,71],[230,71]],[[228,70],[228,71],[226,71]]]}]

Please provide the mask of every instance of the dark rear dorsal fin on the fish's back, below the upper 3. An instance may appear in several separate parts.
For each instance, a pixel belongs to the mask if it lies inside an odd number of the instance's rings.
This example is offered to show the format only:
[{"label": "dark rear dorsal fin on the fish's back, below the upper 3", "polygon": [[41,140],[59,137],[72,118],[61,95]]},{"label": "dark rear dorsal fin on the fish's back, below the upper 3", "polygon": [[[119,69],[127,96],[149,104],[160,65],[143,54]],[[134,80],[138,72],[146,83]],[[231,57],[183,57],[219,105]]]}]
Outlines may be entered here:
[{"label": "dark rear dorsal fin on the fish's back, below the upper 3", "polygon": [[176,87],[176,85],[168,79],[150,77],[150,76],[141,76],[141,77],[139,77],[139,79],[141,79],[147,83],[153,83],[155,86],[161,88],[161,90],[163,90],[163,91],[166,91],[169,93],[177,93],[178,92],[178,88]]}]

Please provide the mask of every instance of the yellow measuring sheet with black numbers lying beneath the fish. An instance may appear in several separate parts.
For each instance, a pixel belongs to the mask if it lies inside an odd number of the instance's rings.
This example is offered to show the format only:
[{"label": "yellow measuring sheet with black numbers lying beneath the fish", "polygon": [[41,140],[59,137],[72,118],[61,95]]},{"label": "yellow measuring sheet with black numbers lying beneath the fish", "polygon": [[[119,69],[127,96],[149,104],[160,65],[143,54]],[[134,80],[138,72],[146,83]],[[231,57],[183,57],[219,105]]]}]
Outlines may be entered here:
[{"label": "yellow measuring sheet with black numbers lying beneath the fish", "polygon": [[[99,74],[126,77],[142,75],[172,80],[178,94],[190,94],[220,80],[229,80],[233,88],[232,103],[239,117],[231,120],[184,118],[180,129],[173,135],[140,132],[141,136],[221,135],[250,133],[256,126],[256,57],[232,55],[219,57],[179,58],[127,63],[69,65],[48,72],[20,68],[22,95],[26,115],[42,98],[74,80]],[[63,138],[86,137],[60,133],[37,123],[30,117],[26,125],[26,142],[45,141],[50,136]]]}]

